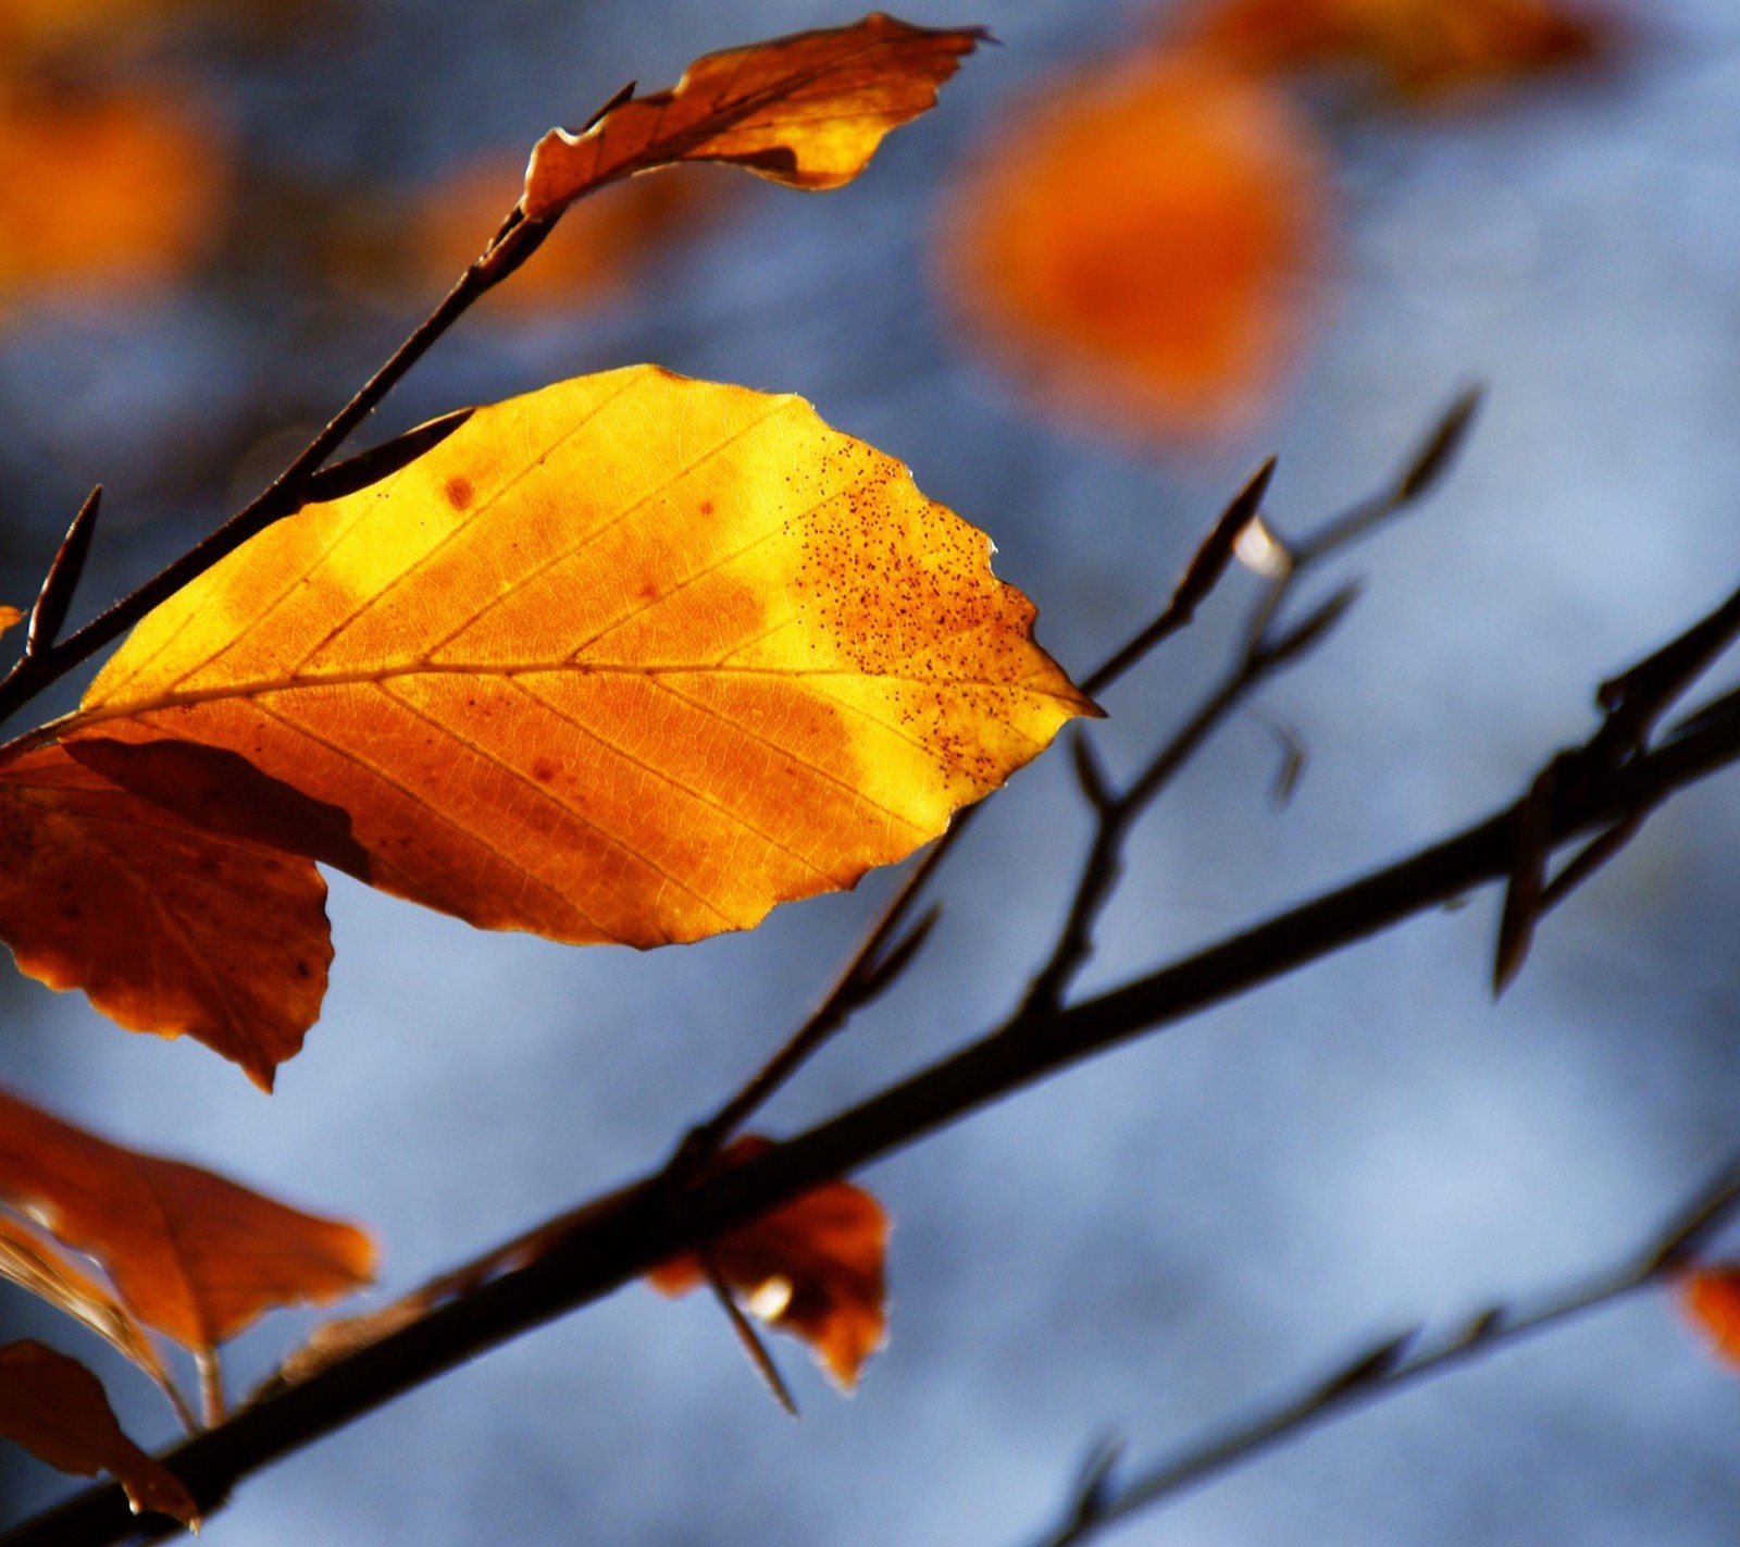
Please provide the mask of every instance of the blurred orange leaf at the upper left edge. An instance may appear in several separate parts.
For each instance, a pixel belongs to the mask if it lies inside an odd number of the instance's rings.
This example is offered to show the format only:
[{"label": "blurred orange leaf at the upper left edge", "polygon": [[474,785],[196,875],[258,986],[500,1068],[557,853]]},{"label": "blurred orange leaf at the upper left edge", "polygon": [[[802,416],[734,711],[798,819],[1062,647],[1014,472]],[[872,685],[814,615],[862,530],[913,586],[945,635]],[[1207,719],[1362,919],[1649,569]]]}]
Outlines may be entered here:
[{"label": "blurred orange leaf at the upper left edge", "polygon": [[167,96],[0,96],[0,313],[64,287],[162,289],[205,252],[228,183],[212,127]]}]

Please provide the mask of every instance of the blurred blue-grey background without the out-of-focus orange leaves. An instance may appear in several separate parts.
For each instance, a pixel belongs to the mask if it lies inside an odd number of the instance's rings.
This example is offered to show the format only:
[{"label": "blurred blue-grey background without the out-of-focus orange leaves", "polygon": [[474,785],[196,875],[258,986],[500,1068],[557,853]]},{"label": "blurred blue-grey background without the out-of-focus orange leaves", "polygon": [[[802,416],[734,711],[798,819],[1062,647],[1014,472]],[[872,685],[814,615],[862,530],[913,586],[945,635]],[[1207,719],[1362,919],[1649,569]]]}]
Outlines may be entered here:
[{"label": "blurred blue-grey background without the out-of-focus orange leaves", "polygon": [[[628,77],[663,84],[708,49],[853,14],[358,0],[346,26],[226,66],[226,111],[273,177],[411,184],[529,146]],[[381,430],[640,358],[800,392],[987,527],[1042,640],[1086,668],[1155,609],[1263,452],[1281,452],[1270,513],[1302,529],[1376,486],[1462,385],[1488,383],[1455,477],[1345,566],[1369,579],[1354,616],[1263,694],[1310,745],[1293,804],[1267,800],[1268,731],[1235,720],[1136,835],[1084,987],[1507,802],[1587,734],[1603,675],[1740,579],[1740,21],[1723,0],[1653,7],[1636,57],[1601,82],[1348,129],[1338,318],[1263,433],[1195,461],[1034,416],[960,346],[927,282],[938,200],[978,136],[1060,63],[1117,52],[1152,21],[1098,0],[903,14],[988,23],[1004,47],[858,184],[750,190],[656,259],[633,301],[536,327],[485,306]],[[433,299],[341,308],[275,273],[266,251],[151,313],[63,313],[0,338],[14,600],[97,479],[111,524],[87,602],[137,579],[224,508],[221,479],[165,492],[171,428],[221,421],[261,381],[303,423]],[[1108,696],[1096,734],[1114,767],[1218,670],[1241,586]],[[1004,1013],[1084,840],[1067,759],[1018,776],[952,861],[912,976],[766,1126],[828,1115]],[[1376,1335],[1528,1296],[1644,1239],[1740,1143],[1737,854],[1740,783],[1724,778],[1556,914],[1496,1006],[1482,893],[875,1166],[865,1180],[896,1220],[893,1343],[849,1403],[781,1340],[804,1406],[792,1423],[710,1303],[632,1288],[245,1484],[211,1538],[1028,1540],[1101,1436],[1150,1455]],[[663,1157],[802,1016],[891,884],[633,955],[480,934],[338,877],[327,1009],[277,1096],[23,980],[0,983],[3,1079],[118,1140],[371,1222],[385,1296]],[[10,1291],[0,1316],[50,1326]],[[233,1383],[296,1328],[249,1333]],[[137,1436],[169,1437],[144,1382],[75,1331],[59,1342],[103,1366]],[[64,1488],[7,1474],[0,1519]],[[1644,1296],[1115,1540],[1714,1547],[1737,1490],[1740,1378]]]}]

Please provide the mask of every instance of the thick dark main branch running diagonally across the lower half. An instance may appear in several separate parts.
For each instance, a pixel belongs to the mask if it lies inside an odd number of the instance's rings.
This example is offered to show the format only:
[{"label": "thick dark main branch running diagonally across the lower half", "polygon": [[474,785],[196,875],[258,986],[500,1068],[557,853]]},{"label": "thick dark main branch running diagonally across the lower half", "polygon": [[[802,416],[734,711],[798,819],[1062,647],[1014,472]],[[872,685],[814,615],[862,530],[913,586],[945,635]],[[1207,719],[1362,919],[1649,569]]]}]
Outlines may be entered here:
[{"label": "thick dark main branch running diagonally across the lower half", "polygon": [[[1693,727],[1601,780],[1568,781],[1549,809],[1564,842],[1740,759],[1740,705],[1709,705]],[[1524,797],[1526,799],[1526,797]],[[303,1382],[277,1387],[164,1455],[211,1514],[249,1474],[532,1326],[602,1298],[652,1265],[891,1154],[1047,1074],[1246,994],[1295,968],[1509,874],[1516,806],[1429,849],[1289,908],[1086,1002],[1014,1016],[988,1035],[797,1138],[687,1189],[665,1173],[569,1218],[520,1265],[362,1343]],[[1693,1236],[1703,1222],[1686,1227]],[[1688,1236],[1691,1239],[1691,1236]],[[155,1524],[155,1523],[153,1523]],[[80,1547],[139,1530],[115,1486],[85,1490],[0,1537],[0,1547]]]}]

